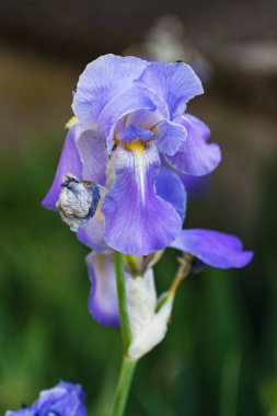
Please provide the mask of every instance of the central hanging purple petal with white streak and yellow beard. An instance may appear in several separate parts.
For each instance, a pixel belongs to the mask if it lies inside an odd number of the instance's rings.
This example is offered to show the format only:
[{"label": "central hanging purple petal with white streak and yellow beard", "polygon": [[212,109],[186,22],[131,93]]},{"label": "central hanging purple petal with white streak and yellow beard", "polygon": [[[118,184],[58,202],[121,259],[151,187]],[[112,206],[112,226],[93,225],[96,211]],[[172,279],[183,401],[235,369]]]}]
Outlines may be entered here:
[{"label": "central hanging purple petal with white streak and yellow beard", "polygon": [[181,230],[175,209],[154,190],[160,159],[154,143],[116,149],[116,180],[102,211],[104,239],[124,254],[147,255],[170,244]]}]

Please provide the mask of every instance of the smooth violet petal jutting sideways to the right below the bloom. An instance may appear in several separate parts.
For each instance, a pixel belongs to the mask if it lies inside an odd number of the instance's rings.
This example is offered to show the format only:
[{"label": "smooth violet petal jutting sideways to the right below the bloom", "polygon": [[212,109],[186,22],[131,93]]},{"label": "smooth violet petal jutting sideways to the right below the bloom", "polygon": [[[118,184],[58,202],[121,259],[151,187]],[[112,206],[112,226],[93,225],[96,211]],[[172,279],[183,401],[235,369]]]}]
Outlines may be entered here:
[{"label": "smooth violet petal jutting sideways to the right below the bloom", "polygon": [[219,268],[244,267],[253,257],[253,252],[243,251],[240,239],[212,230],[182,230],[170,246]]}]

